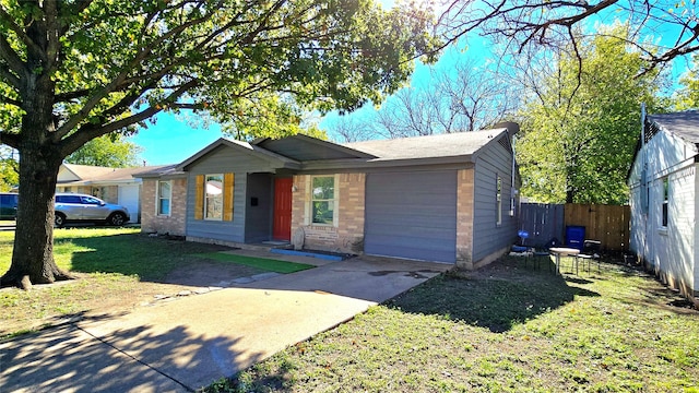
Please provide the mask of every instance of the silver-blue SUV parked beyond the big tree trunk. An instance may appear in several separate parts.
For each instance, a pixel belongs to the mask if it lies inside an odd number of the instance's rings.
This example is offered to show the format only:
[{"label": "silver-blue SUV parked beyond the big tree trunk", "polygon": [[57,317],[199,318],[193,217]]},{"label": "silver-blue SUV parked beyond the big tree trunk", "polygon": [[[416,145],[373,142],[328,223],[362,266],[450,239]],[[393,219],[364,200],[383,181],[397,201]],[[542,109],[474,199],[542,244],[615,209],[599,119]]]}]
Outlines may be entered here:
[{"label": "silver-blue SUV parked beyond the big tree trunk", "polygon": [[126,207],[85,194],[57,193],[55,211],[55,224],[59,228],[66,223],[74,222],[114,226],[129,222],[129,211]]}]

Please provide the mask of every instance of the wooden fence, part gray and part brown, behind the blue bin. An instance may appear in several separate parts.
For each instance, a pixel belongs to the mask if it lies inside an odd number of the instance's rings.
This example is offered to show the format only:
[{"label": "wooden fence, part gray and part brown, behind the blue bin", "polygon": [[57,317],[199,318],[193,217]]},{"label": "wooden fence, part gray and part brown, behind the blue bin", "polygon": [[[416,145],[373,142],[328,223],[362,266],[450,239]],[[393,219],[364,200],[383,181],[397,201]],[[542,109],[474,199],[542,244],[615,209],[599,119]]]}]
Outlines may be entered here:
[{"label": "wooden fence, part gray and part brown, behind the blue bin", "polygon": [[596,204],[522,203],[520,229],[529,233],[525,243],[544,247],[552,239],[566,241],[566,227],[585,227],[585,239],[599,240],[609,251],[628,251],[630,207]]}]

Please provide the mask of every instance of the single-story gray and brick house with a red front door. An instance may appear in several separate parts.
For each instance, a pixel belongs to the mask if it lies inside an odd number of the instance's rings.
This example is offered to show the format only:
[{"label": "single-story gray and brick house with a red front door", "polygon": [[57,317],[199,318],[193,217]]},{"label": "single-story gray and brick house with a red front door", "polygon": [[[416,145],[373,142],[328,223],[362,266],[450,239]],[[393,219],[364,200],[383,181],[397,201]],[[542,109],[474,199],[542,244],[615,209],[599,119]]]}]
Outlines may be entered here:
[{"label": "single-story gray and brick house with a red front door", "polygon": [[[144,198],[153,201],[146,207],[144,200],[142,227],[192,241],[280,240],[474,269],[517,240],[511,136],[518,130],[507,123],[346,145],[306,135],[220,139],[171,172],[141,175]],[[162,189],[171,195],[169,213],[158,211]],[[186,209],[177,207],[177,195]],[[182,213],[183,227],[164,226],[182,223]]]}]

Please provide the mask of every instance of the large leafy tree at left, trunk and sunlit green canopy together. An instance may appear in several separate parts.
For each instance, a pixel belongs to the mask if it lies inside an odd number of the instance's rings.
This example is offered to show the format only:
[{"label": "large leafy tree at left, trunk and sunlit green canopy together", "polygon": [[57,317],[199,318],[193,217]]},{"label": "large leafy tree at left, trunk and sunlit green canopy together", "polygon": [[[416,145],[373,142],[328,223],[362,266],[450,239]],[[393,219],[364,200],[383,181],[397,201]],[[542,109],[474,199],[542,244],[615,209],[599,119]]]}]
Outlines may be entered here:
[{"label": "large leafy tree at left, trunk and sunlit green canopy together", "polygon": [[301,109],[352,110],[402,86],[437,44],[430,23],[371,0],[0,0],[0,141],[20,152],[0,284],[67,277],[51,196],[88,141],[185,109],[241,135],[294,132]]}]

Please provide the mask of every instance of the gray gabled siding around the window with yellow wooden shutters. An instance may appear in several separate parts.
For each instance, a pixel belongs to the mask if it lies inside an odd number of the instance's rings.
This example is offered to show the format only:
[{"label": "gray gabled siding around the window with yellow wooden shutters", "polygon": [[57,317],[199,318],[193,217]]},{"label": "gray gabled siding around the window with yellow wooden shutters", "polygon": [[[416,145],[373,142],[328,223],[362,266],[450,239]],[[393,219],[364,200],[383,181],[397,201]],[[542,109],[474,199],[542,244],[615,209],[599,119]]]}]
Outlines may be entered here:
[{"label": "gray gabled siding around the window with yellow wooden shutters", "polygon": [[[232,222],[194,219],[197,175],[235,174],[234,214]],[[245,242],[247,175],[274,172],[270,163],[238,150],[222,146],[189,168],[187,193],[187,236]]]}]

